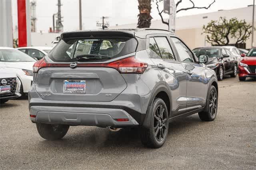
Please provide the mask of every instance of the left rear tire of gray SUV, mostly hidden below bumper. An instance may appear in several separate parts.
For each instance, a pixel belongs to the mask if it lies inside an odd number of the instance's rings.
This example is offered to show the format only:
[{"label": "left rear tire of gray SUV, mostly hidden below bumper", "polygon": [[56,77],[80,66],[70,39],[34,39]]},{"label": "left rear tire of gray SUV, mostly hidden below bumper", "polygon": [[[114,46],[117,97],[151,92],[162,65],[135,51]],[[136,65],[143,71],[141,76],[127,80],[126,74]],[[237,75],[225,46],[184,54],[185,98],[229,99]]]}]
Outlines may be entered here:
[{"label": "left rear tire of gray SUV, mostly hidden below bumper", "polygon": [[36,128],[40,136],[47,140],[58,140],[68,132],[68,125],[53,125],[37,123]]}]

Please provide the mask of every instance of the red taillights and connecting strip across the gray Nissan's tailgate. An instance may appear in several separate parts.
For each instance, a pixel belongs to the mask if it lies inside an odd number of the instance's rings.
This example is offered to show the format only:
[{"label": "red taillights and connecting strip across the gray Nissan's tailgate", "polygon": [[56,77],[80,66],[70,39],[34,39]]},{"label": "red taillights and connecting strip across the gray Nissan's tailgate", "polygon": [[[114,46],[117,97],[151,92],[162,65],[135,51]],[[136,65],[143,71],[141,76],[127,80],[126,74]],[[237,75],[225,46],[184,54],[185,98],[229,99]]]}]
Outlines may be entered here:
[{"label": "red taillights and connecting strip across the gray Nissan's tailgate", "polygon": [[[51,64],[47,63],[44,58],[37,61],[33,66],[33,72],[37,73],[40,68],[44,67],[69,67],[70,64]],[[120,73],[142,74],[148,64],[138,61],[134,56],[127,57],[121,60],[116,60],[109,63],[78,63],[77,67],[110,67],[118,70]]]}]

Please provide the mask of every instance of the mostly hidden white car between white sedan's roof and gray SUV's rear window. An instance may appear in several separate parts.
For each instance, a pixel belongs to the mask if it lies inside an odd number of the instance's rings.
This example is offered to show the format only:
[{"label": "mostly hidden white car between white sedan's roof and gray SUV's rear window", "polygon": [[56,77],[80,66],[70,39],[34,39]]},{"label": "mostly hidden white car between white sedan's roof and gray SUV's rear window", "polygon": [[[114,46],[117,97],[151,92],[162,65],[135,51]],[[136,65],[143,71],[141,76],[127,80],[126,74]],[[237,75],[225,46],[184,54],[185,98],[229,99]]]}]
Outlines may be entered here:
[{"label": "mostly hidden white car between white sedan's roof and gray SUV's rear window", "polygon": [[33,47],[19,47],[17,49],[24,52],[25,54],[28,54],[30,57],[36,60],[40,60],[52,50],[52,47],[33,46]]}]

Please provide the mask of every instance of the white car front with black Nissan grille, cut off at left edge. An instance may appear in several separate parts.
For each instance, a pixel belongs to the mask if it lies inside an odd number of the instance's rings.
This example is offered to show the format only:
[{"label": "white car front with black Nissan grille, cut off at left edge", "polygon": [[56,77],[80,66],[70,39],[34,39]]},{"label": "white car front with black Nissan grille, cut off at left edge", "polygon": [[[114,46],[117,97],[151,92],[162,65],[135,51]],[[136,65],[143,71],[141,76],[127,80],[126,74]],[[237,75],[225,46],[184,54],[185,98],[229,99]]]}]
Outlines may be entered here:
[{"label": "white car front with black Nissan grille, cut off at left edge", "polygon": [[11,68],[0,67],[0,104],[21,96],[20,80]]}]

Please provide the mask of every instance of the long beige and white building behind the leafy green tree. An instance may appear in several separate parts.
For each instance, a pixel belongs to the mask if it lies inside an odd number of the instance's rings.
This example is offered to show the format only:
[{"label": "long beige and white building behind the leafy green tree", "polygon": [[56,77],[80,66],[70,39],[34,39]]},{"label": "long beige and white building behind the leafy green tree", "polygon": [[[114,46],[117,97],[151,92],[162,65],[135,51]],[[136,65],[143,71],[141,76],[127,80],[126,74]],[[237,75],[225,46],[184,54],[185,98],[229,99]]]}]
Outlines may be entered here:
[{"label": "long beige and white building behind the leafy green tree", "polygon": [[[232,10],[219,10],[217,12],[210,12],[205,14],[182,16],[176,19],[176,34],[186,42],[186,44],[194,49],[196,47],[211,46],[206,42],[206,34],[202,33],[203,26],[207,25],[211,20],[218,20],[221,16],[226,17],[226,19],[231,19],[236,17],[238,20],[246,20],[247,23],[252,24],[252,8],[253,6],[247,6],[245,8],[238,8]],[[159,17],[160,18],[160,17]],[[256,20],[256,15],[254,16],[254,22]],[[256,24],[256,23],[255,23]],[[118,26],[111,26],[113,29],[122,28],[136,28],[137,23],[124,24]],[[168,26],[162,23],[162,20],[152,20],[150,28],[166,29]],[[254,34],[254,46],[256,40],[256,35]],[[234,45],[235,40],[230,38],[230,45]],[[250,37],[244,44],[240,44],[240,48],[249,49],[252,47],[252,37]]]}]

